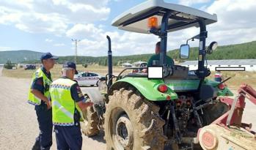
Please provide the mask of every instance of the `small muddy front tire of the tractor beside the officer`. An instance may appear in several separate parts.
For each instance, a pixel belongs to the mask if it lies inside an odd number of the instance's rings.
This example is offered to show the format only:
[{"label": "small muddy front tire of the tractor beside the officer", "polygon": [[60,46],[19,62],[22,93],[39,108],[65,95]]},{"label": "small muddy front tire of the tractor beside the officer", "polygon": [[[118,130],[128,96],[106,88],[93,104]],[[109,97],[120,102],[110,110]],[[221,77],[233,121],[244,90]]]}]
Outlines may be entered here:
[{"label": "small muddy front tire of the tractor beside the officer", "polygon": [[[91,100],[87,100],[91,101]],[[83,112],[84,121],[81,122],[81,130],[84,135],[92,137],[98,135],[100,129],[98,127],[100,119],[98,118],[97,112],[94,110],[93,106],[90,106]]]}]

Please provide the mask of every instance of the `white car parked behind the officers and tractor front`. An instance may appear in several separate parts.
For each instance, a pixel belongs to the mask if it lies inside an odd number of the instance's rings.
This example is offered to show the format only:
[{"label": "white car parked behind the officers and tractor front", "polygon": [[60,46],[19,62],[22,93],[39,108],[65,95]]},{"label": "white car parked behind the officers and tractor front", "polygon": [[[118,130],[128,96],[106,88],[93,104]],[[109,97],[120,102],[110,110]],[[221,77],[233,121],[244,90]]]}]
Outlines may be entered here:
[{"label": "white car parked behind the officers and tractor front", "polygon": [[100,75],[94,72],[78,72],[74,80],[77,81],[79,86],[95,86],[100,78]]}]

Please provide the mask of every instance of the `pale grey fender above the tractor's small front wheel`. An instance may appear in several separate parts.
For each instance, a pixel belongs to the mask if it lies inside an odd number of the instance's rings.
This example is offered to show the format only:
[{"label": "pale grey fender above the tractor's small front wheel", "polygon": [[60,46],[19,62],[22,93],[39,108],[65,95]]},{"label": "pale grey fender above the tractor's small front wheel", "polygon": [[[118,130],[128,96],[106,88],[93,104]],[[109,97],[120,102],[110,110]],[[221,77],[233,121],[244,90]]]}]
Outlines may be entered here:
[{"label": "pale grey fender above the tractor's small front wheel", "polygon": [[85,96],[88,96],[94,104],[104,105],[103,95],[100,94],[98,89],[83,88],[81,91]]}]

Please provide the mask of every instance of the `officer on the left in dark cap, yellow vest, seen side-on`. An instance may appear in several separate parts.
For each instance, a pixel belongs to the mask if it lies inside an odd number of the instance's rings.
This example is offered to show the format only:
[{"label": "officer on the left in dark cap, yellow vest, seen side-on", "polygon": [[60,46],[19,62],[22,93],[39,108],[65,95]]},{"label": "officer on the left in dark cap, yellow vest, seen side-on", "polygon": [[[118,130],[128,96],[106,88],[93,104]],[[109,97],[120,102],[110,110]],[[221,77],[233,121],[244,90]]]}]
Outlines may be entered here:
[{"label": "officer on the left in dark cap, yellow vest, seen side-on", "polygon": [[54,67],[56,56],[51,53],[44,53],[41,56],[43,66],[40,67],[32,76],[32,84],[29,89],[29,104],[35,105],[37,121],[40,133],[36,138],[32,150],[48,150],[52,145],[52,112],[50,104],[49,87],[52,83],[51,68]]}]

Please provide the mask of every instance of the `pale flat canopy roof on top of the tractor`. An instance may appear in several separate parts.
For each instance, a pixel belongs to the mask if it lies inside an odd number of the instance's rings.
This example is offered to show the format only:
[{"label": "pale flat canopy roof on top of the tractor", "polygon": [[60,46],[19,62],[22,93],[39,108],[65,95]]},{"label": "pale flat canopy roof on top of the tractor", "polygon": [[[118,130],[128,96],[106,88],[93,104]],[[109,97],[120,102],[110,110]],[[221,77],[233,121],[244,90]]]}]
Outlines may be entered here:
[{"label": "pale flat canopy roof on top of the tractor", "polygon": [[168,20],[168,31],[178,31],[192,26],[199,27],[198,19],[204,19],[206,25],[217,22],[216,14],[211,15],[191,7],[170,4],[164,0],[148,0],[114,18],[112,26],[126,31],[150,34],[147,26],[148,18],[158,18],[157,29],[161,29],[161,20],[167,11],[172,14]]}]

